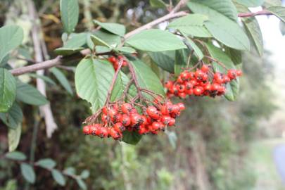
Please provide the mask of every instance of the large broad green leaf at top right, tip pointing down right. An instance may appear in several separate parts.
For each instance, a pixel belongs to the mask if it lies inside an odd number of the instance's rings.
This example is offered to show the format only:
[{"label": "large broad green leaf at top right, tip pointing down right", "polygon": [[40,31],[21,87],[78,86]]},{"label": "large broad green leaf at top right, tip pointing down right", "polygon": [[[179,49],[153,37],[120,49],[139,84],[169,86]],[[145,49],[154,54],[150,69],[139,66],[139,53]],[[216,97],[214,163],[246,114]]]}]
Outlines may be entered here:
[{"label": "large broad green leaf at top right, tip pointing down right", "polygon": [[190,1],[189,8],[194,13],[208,15],[209,20],[205,21],[205,26],[213,34],[213,37],[223,44],[234,49],[249,50],[250,43],[248,37],[241,27],[221,13],[209,6]]}]

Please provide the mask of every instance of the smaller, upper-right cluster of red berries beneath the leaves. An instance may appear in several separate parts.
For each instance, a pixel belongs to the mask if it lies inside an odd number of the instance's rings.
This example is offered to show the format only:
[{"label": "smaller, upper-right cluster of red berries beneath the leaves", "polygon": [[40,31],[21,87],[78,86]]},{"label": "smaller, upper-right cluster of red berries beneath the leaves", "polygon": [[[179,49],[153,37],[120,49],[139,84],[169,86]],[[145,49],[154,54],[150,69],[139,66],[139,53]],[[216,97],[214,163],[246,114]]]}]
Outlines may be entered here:
[{"label": "smaller, upper-right cluster of red berries beneath the leaves", "polygon": [[222,96],[226,92],[224,84],[242,75],[241,70],[229,69],[227,74],[210,72],[208,65],[203,65],[196,71],[184,70],[176,81],[165,82],[167,96],[179,96],[184,99],[187,95]]}]

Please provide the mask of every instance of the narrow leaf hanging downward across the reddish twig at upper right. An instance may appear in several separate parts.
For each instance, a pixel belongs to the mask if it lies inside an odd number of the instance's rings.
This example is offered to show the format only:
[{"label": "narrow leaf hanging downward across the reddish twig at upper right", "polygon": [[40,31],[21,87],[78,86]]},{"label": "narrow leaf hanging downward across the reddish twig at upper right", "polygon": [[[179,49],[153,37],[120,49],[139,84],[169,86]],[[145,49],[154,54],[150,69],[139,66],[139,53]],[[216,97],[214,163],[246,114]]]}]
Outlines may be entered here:
[{"label": "narrow leaf hanging downward across the reddish twig at upper right", "polygon": [[[241,13],[251,12],[248,8],[239,4],[236,4],[236,8],[238,8]],[[246,32],[248,32],[248,37],[251,39],[251,43],[255,46],[258,54],[262,56],[263,39],[258,20],[255,17],[241,18],[241,20],[246,28]]]}]

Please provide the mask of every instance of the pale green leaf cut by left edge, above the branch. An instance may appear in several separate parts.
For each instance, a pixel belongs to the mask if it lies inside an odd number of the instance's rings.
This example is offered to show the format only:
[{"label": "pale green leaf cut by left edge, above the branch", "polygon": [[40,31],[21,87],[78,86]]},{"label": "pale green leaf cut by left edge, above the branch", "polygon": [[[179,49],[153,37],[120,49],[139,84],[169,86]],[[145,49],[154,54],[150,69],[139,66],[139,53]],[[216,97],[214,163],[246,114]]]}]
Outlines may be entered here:
[{"label": "pale green leaf cut by left edge, above the branch", "polygon": [[0,28],[0,63],[3,58],[23,41],[23,29],[17,25]]}]

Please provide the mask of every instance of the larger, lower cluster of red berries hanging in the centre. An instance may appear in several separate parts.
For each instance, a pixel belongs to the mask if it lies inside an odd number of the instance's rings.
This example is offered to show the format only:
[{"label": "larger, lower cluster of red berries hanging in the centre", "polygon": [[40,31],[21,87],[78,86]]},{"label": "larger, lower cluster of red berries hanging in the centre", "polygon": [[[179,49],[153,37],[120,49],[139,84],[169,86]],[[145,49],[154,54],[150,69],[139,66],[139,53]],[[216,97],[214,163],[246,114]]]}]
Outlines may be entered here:
[{"label": "larger, lower cluster of red berries hanging in the centre", "polygon": [[100,123],[83,127],[84,134],[122,139],[122,132],[138,132],[139,134],[158,134],[165,127],[175,125],[175,118],[185,109],[183,103],[173,104],[171,101],[148,106],[144,114],[139,114],[130,103],[115,103],[109,108],[103,107]]}]

